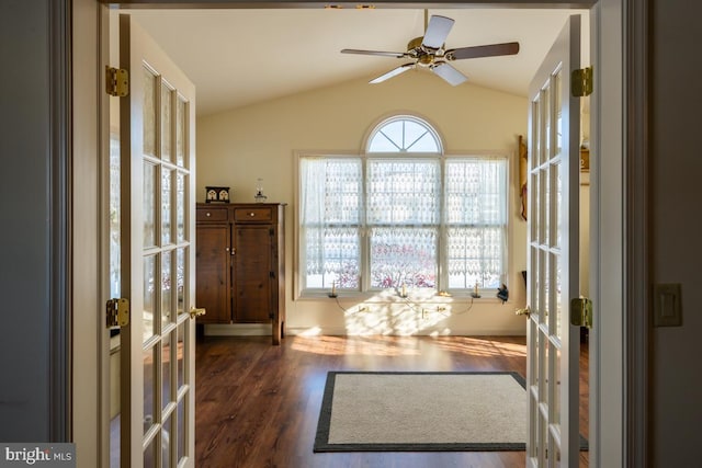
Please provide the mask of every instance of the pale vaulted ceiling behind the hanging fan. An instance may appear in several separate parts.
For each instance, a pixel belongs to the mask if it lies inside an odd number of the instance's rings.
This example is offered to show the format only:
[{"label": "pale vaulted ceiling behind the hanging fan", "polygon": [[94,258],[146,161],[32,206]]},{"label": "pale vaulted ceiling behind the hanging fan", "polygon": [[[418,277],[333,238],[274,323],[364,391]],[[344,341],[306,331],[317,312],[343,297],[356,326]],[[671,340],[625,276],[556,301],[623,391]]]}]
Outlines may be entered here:
[{"label": "pale vaulted ceiling behind the hanging fan", "polygon": [[[118,12],[114,11],[116,18]],[[197,89],[197,114],[284,96],[353,79],[373,79],[405,58],[341,54],[342,48],[405,52],[423,35],[424,11],[408,9],[265,9],[128,11]],[[429,10],[455,20],[446,48],[517,41],[514,56],[455,60],[468,83],[526,95],[529,81],[567,15],[582,10]],[[588,64],[589,58],[584,59]],[[427,70],[421,70],[428,72]],[[437,87],[450,87],[437,78]],[[392,87],[393,80],[374,87]],[[465,85],[465,84],[462,84]],[[431,92],[431,90],[428,90]]]}]

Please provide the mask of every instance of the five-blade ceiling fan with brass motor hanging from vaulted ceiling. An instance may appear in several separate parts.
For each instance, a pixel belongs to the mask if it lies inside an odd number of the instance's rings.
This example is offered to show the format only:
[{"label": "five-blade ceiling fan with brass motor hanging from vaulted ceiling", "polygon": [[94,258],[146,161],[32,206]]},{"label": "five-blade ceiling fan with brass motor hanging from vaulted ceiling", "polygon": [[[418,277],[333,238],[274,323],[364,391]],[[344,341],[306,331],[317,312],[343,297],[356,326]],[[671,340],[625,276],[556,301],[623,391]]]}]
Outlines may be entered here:
[{"label": "five-blade ceiling fan with brass motor hanging from vaulted ceiling", "polygon": [[409,69],[420,66],[433,71],[454,87],[463,83],[468,78],[450,65],[449,61],[462,60],[465,58],[514,55],[519,53],[519,43],[516,42],[445,49],[444,42],[451,32],[451,27],[453,27],[453,23],[454,20],[451,18],[439,15],[432,15],[431,19],[428,20],[428,12],[424,10],[424,35],[422,37],[415,37],[411,39],[407,44],[407,52],[359,50],[344,48],[341,53],[409,58],[412,60],[371,80],[370,82],[373,84],[383,82]]}]

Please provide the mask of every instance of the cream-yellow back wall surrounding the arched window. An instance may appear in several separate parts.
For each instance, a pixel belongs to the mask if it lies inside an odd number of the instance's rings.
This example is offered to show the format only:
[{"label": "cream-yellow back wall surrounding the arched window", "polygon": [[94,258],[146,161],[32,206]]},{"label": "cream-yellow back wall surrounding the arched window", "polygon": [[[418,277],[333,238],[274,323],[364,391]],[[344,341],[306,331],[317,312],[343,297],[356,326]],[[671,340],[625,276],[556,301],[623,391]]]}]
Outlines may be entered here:
[{"label": "cream-yellow back wall surrounding the arched window", "polygon": [[[236,77],[234,77],[236,79]],[[284,79],[284,77],[282,77]],[[285,202],[288,332],[387,334],[524,334],[514,309],[525,300],[525,227],[519,216],[517,137],[526,130],[526,99],[473,87],[452,88],[430,73],[410,71],[370,85],[366,80],[299,93],[197,119],[197,201],[205,185],[231,187],[234,202],[252,202],[263,179],[269,202]],[[498,151],[510,158],[510,300],[418,301],[418,312],[395,299],[361,305],[329,298],[295,299],[296,151],[360,151],[370,129],[392,113],[410,112],[440,132],[446,152]],[[359,312],[364,307],[365,311]],[[445,307],[443,313],[437,307]],[[347,309],[344,312],[342,309]],[[421,313],[426,309],[427,313]],[[453,317],[450,317],[453,311]],[[207,333],[264,332],[267,328],[210,327]]]}]

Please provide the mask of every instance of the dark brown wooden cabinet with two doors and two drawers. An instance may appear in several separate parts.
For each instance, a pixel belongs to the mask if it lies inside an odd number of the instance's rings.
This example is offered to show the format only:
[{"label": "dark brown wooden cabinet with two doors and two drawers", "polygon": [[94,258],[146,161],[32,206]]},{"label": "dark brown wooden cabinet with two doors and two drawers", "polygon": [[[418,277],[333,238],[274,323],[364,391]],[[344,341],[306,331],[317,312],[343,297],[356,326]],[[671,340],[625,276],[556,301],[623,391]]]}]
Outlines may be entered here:
[{"label": "dark brown wooden cabinet with two doors and two drawers", "polygon": [[285,335],[285,204],[196,206],[197,323],[271,323]]}]

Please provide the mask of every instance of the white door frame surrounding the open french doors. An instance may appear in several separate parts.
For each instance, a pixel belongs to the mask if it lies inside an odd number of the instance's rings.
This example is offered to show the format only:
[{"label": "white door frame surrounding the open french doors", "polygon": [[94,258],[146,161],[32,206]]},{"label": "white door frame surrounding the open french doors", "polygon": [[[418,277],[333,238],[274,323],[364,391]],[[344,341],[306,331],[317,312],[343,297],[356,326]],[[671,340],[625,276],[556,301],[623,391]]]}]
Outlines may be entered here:
[{"label": "white door frame surrounding the open french doors", "polygon": [[[68,1],[68,0],[67,0]],[[222,8],[250,5],[245,0],[205,0]],[[648,308],[648,217],[647,207],[647,140],[648,119],[648,46],[647,14],[649,0],[599,0],[591,10],[591,25],[597,31],[591,47],[597,92],[591,99],[591,292],[596,305],[607,315],[597,313],[599,331],[591,338],[591,355],[599,372],[590,378],[596,401],[592,411],[599,419],[591,429],[590,438],[600,442],[596,448],[593,466],[646,466],[647,447],[647,322]],[[152,4],[196,5],[197,0],[152,0]],[[228,3],[228,4],[227,4]],[[444,4],[462,3],[455,0]],[[473,4],[528,8],[530,4],[509,1],[474,1]],[[552,0],[553,4],[589,8],[593,2],[571,3]],[[321,7],[322,3],[294,1],[260,2],[263,7],[294,8]],[[377,2],[392,7],[428,3],[406,3],[393,0]],[[257,2],[258,5],[258,2]],[[75,199],[100,196],[99,168],[95,155],[103,151],[100,137],[104,125],[104,101],[100,71],[100,49],[104,39],[99,28],[99,16],[104,7],[99,0],[72,0],[72,150],[73,173],[71,186]],[[603,46],[605,44],[607,46]],[[621,47],[614,47],[621,45]],[[625,84],[624,84],[625,83]],[[607,157],[600,158],[599,155]],[[611,203],[611,201],[621,203]],[[607,203],[604,203],[607,201]],[[100,204],[90,204],[87,210],[73,213],[71,232],[95,231]],[[607,242],[602,241],[607,239]],[[616,241],[612,242],[612,239]],[[93,251],[76,249],[73,265],[91,265],[100,260]],[[100,285],[95,285],[100,290]],[[89,356],[99,356],[103,340],[95,340],[95,330],[102,329],[104,301],[93,288],[73,292],[73,440],[78,445],[78,466],[101,465],[101,426],[95,408],[101,408],[105,363]],[[97,300],[97,303],[95,303]],[[84,383],[95,383],[94,393],[86,396]],[[80,391],[81,398],[76,398]],[[602,388],[621,388],[621,392],[602,392]],[[592,432],[595,430],[595,432]]]}]

